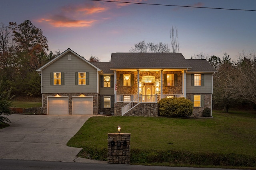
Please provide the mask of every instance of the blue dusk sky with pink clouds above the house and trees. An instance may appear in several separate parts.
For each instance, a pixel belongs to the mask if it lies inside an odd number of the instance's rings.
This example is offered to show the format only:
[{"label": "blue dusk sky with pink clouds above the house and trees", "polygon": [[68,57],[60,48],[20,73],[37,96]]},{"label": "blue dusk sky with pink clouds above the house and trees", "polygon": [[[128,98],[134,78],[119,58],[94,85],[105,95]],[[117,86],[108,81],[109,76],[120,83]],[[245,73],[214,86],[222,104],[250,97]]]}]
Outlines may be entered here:
[{"label": "blue dusk sky with pink clouds above the house and trees", "polygon": [[[256,10],[256,0],[112,0]],[[256,52],[256,12],[184,8],[90,0],[2,0],[0,23],[30,20],[42,29],[50,50],[70,48],[85,59],[102,62],[111,53],[129,52],[135,43],[168,43],[178,29],[180,53],[190,59],[199,53],[222,58],[228,53]]]}]

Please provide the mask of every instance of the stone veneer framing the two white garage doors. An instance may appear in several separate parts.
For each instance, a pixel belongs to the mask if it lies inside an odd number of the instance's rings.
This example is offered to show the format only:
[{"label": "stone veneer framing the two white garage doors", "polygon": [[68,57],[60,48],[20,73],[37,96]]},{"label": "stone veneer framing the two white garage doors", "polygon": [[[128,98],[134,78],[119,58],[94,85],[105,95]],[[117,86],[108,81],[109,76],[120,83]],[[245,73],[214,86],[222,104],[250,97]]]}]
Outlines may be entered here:
[{"label": "stone veneer framing the two white garage doors", "polygon": [[[58,93],[61,97],[68,97],[68,114],[72,115],[72,97],[78,97],[81,93]],[[84,96],[93,96],[93,114],[98,114],[98,93],[83,93]],[[43,93],[43,107],[45,114],[47,114],[47,97],[54,97],[56,93]]]}]

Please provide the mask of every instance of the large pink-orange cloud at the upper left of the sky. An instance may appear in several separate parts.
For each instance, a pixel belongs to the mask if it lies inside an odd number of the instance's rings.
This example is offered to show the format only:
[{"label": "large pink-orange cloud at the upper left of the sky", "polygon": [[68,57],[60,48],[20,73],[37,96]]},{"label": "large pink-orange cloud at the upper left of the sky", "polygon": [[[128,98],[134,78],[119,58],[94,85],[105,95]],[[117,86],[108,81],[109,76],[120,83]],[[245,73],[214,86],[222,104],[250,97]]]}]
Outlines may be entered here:
[{"label": "large pink-orange cloud at the upper left of the sky", "polygon": [[[120,0],[113,0],[119,2]],[[146,0],[127,0],[126,2],[143,2]],[[122,8],[128,3],[93,2],[86,4],[63,6],[59,13],[41,18],[39,22],[46,22],[54,27],[90,27],[97,21],[110,19],[105,14],[112,8]],[[105,12],[105,13],[104,13]],[[97,15],[96,15],[97,14]]]}]

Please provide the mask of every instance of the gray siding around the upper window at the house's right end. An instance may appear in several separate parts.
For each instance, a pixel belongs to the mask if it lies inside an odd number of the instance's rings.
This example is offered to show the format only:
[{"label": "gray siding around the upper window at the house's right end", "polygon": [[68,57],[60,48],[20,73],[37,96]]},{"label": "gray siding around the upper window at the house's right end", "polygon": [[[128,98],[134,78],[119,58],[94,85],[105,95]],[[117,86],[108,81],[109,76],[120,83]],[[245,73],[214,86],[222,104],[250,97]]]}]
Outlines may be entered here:
[{"label": "gray siding around the upper window at the house's right end", "polygon": [[186,75],[187,93],[207,94],[212,93],[212,74],[204,74],[204,86],[191,86],[191,74]]}]

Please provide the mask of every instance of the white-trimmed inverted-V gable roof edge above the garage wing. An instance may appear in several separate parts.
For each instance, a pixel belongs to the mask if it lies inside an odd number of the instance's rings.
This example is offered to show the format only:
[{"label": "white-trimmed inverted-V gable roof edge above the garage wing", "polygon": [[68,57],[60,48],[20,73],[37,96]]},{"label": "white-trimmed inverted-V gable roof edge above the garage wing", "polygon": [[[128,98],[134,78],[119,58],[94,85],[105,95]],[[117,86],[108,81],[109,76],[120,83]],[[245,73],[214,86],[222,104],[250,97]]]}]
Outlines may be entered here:
[{"label": "white-trimmed inverted-V gable roof edge above the garage wing", "polygon": [[79,59],[81,59],[82,61],[84,61],[85,63],[89,64],[90,66],[94,67],[96,70],[100,71],[100,68],[98,68],[97,66],[93,65],[92,63],[90,63],[89,61],[87,61],[86,59],[84,59],[83,57],[81,57],[80,55],[78,55],[77,53],[75,53],[74,51],[72,51],[70,48],[68,48],[66,51],[62,52],[60,55],[56,56],[54,59],[52,59],[51,61],[49,61],[48,63],[44,64],[43,66],[41,66],[40,68],[38,68],[36,71],[39,73],[41,72],[44,68],[46,68],[47,66],[49,66],[50,64],[58,61],[58,59],[60,59],[61,57],[63,57],[64,55],[66,55],[67,53],[72,53],[74,56],[78,57]]}]

